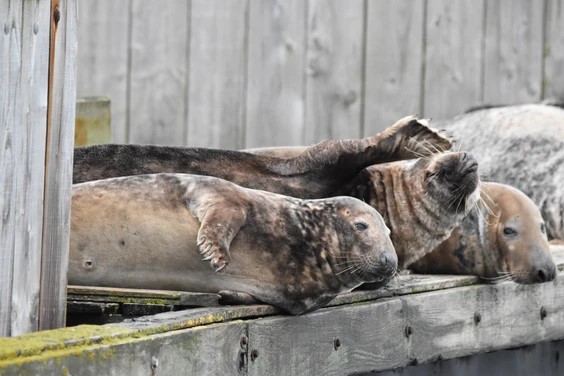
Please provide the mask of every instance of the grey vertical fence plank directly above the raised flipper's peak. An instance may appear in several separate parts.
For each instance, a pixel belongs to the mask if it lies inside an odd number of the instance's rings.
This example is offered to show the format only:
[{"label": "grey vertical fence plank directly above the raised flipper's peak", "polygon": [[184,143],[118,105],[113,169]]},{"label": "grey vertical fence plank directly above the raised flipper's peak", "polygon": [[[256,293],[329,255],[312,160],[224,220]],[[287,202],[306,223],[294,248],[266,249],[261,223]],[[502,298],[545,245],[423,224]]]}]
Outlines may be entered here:
[{"label": "grey vertical fence plank directly above the raised flipper's peak", "polygon": [[367,1],[364,135],[421,113],[423,0]]}]

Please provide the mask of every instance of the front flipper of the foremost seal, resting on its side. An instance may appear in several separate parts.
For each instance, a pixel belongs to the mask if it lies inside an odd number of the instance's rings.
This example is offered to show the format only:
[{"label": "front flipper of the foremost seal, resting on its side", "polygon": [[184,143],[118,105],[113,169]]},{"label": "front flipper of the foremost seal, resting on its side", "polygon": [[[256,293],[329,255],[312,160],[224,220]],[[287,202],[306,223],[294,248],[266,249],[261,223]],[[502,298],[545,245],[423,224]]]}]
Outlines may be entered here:
[{"label": "front flipper of the foremost seal, resting on its side", "polygon": [[220,272],[229,263],[229,246],[245,224],[246,212],[226,200],[220,200],[219,203],[209,206],[203,215],[196,216],[200,221],[196,245],[204,257],[202,260],[210,261],[215,271]]}]

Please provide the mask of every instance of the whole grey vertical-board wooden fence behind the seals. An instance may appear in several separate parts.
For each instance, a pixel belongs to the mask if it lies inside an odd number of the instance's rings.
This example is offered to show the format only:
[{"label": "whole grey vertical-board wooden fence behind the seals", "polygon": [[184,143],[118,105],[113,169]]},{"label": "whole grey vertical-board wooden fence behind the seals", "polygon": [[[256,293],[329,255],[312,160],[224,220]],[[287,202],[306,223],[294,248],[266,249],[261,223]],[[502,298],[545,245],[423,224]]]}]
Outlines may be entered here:
[{"label": "whole grey vertical-board wooden fence behind the seals", "polygon": [[79,0],[78,93],[114,142],[372,134],[411,113],[564,96],[564,0]]}]

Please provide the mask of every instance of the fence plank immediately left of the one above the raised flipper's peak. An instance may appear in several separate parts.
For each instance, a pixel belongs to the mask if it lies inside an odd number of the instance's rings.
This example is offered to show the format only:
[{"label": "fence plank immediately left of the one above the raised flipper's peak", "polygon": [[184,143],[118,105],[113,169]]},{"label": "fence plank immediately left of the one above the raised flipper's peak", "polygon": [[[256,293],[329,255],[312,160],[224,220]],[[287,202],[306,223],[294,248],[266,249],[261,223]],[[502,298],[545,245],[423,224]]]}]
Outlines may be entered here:
[{"label": "fence plank immediately left of the one above the raised flipper's peak", "polygon": [[305,143],[362,137],[364,1],[310,0]]}]

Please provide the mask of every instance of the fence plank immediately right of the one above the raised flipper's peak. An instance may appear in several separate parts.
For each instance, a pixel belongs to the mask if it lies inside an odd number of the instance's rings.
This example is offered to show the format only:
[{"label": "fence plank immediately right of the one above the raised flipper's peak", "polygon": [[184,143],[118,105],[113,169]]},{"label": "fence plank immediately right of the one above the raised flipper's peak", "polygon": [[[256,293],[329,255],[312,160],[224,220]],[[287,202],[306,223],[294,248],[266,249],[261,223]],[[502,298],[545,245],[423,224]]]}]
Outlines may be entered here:
[{"label": "fence plank immediately right of the one above the raised flipper's peak", "polygon": [[481,103],[483,0],[427,3],[423,115],[444,119]]}]

